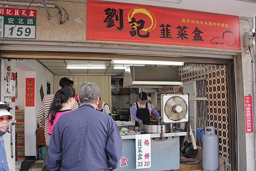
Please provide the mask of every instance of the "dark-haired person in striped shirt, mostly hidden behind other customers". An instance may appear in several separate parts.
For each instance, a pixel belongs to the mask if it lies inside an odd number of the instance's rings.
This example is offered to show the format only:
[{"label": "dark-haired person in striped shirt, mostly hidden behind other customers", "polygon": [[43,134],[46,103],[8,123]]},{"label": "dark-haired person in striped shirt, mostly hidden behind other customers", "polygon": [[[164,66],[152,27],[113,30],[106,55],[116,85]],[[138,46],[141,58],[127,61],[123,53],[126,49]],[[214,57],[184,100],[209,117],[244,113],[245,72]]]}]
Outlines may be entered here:
[{"label": "dark-haired person in striped shirt, mostly hidden behind other customers", "polygon": [[[61,90],[61,88],[64,88],[66,86],[73,87],[73,84],[74,84],[74,81],[70,80],[67,77],[63,77],[59,81],[59,90]],[[49,109],[52,105],[53,99],[54,99],[54,94],[49,94],[44,96],[44,99],[38,109],[38,112],[36,113],[36,122],[38,122],[39,125],[44,125],[44,136],[46,141],[46,147],[45,147],[45,153],[44,153],[44,164],[41,171],[47,171],[47,151],[48,151],[49,143],[51,140],[51,135],[49,135],[48,133],[48,124],[49,124],[48,114],[49,114]],[[72,107],[72,110],[75,110],[78,107],[79,105],[75,101]]]}]

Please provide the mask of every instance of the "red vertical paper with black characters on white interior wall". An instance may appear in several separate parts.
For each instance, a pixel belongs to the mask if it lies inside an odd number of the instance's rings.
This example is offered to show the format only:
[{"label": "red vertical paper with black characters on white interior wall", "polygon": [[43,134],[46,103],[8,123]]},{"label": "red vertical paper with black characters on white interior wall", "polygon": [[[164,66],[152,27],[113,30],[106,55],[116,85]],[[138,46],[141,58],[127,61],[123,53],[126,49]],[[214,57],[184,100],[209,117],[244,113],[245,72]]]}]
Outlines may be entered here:
[{"label": "red vertical paper with black characters on white interior wall", "polygon": [[26,78],[26,107],[35,106],[35,78]]}]

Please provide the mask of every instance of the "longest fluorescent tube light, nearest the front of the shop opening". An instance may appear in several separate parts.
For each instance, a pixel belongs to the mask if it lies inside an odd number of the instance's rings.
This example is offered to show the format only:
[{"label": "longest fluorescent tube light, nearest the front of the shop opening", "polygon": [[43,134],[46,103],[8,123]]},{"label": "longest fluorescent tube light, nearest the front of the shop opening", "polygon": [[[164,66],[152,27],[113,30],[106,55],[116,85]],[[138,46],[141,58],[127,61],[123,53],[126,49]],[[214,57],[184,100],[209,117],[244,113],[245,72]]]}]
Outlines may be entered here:
[{"label": "longest fluorescent tube light, nearest the front of the shop opening", "polygon": [[184,65],[175,61],[141,61],[141,60],[112,60],[112,64],[148,64],[148,65]]}]

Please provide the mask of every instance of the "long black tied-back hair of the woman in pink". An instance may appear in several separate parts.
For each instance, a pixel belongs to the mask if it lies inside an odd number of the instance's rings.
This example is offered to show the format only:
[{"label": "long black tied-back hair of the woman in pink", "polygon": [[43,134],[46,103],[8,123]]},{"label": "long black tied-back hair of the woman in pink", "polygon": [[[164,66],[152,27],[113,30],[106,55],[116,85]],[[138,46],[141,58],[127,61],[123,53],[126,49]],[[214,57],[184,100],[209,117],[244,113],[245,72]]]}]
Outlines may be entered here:
[{"label": "long black tied-back hair of the woman in pink", "polygon": [[53,124],[53,120],[55,119],[56,112],[62,108],[62,103],[66,103],[70,97],[76,96],[76,90],[73,87],[66,86],[61,90],[58,90],[55,93],[54,99],[52,101],[52,106],[49,109],[49,115],[51,115],[51,119],[49,123]]}]

